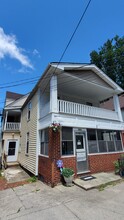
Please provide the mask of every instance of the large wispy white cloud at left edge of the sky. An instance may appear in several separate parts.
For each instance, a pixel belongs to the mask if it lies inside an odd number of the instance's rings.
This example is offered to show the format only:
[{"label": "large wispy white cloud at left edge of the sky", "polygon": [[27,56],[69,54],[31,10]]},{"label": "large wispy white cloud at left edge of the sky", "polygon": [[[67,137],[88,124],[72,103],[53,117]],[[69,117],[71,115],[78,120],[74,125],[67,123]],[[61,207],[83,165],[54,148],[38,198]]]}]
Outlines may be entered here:
[{"label": "large wispy white cloud at left edge of the sky", "polygon": [[11,58],[18,60],[23,66],[33,69],[29,58],[22,54],[24,49],[18,47],[15,35],[6,35],[3,28],[0,27],[0,59],[9,55]]}]

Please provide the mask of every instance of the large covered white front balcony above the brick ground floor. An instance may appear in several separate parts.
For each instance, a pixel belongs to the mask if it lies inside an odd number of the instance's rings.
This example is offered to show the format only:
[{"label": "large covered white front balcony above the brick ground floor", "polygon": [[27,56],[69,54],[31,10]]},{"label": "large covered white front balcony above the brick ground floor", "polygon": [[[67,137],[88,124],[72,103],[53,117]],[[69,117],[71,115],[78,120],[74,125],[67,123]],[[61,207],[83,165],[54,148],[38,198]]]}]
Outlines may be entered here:
[{"label": "large covered white front balcony above the brick ground floor", "polygon": [[[72,67],[73,66],[73,67]],[[53,69],[50,69],[52,74]],[[123,90],[94,65],[62,64],[56,74],[44,79],[40,90],[40,118],[49,113],[77,115],[123,122],[118,94]],[[46,82],[46,81],[47,82]],[[113,111],[101,108],[101,103],[113,98]]]}]

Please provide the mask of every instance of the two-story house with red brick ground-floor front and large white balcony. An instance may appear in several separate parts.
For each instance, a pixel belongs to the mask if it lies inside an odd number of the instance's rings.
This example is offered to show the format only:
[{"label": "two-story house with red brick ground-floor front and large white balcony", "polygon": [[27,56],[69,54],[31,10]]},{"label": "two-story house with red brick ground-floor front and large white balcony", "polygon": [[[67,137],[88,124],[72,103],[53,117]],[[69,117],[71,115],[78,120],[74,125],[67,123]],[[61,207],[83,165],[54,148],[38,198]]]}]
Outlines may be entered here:
[{"label": "two-story house with red brick ground-floor front and large white balcony", "polygon": [[[113,170],[123,153],[122,92],[95,65],[50,63],[22,107],[19,163],[53,186],[59,159],[75,176]],[[100,107],[110,97],[114,111]]]}]

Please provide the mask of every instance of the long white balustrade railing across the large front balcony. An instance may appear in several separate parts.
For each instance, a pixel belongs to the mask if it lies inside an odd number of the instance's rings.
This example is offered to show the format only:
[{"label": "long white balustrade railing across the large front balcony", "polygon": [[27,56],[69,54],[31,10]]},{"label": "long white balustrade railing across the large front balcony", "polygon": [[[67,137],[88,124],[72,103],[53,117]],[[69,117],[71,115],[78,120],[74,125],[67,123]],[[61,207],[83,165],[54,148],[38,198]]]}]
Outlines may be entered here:
[{"label": "long white balustrade railing across the large front balcony", "polygon": [[114,111],[64,100],[58,100],[58,111],[66,114],[119,120],[118,114]]}]

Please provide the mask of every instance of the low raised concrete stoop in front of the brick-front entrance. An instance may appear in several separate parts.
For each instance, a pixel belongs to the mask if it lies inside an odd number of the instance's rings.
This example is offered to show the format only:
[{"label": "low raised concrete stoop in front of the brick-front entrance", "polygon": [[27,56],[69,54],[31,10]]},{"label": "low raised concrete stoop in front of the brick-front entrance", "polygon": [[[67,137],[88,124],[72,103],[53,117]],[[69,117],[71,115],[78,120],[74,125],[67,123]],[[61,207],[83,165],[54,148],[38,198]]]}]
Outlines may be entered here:
[{"label": "low raised concrete stoop in front of the brick-front entrance", "polygon": [[74,184],[85,190],[89,190],[93,188],[98,188],[99,186],[104,184],[110,184],[112,182],[122,180],[122,178],[119,175],[115,175],[114,172],[109,172],[109,173],[101,172],[101,173],[92,174],[91,176],[95,178],[85,181],[83,179],[77,178],[74,180]]}]

